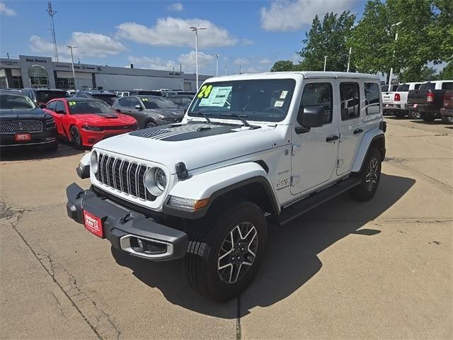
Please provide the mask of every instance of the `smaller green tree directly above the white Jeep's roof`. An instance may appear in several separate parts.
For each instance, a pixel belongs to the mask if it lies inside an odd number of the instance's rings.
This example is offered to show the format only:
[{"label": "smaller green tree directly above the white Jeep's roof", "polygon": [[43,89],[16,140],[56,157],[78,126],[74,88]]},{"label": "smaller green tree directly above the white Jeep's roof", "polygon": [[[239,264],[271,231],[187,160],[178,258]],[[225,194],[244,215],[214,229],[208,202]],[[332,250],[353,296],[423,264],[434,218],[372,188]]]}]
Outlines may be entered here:
[{"label": "smaller green tree directly above the white Jeep's roof", "polygon": [[[315,16],[306,38],[302,40],[302,50],[298,54],[303,58],[299,69],[306,71],[322,71],[324,57],[327,56],[326,70],[346,71],[350,38],[355,15],[349,11],[326,13],[323,22]],[[351,65],[351,70],[354,67]]]}]

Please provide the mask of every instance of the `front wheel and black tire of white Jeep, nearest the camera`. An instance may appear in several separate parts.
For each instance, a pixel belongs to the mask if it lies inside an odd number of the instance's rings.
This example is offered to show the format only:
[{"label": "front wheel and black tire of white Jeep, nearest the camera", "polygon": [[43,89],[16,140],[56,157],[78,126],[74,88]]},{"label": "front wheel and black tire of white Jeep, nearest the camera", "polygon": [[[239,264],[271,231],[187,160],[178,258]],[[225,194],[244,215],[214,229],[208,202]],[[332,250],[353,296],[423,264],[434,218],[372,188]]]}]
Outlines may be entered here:
[{"label": "front wheel and black tire of white Jeep, nearest the camera", "polygon": [[230,205],[212,216],[189,232],[185,274],[192,288],[207,300],[226,302],[253,280],[263,261],[268,232],[263,211],[251,202]]}]

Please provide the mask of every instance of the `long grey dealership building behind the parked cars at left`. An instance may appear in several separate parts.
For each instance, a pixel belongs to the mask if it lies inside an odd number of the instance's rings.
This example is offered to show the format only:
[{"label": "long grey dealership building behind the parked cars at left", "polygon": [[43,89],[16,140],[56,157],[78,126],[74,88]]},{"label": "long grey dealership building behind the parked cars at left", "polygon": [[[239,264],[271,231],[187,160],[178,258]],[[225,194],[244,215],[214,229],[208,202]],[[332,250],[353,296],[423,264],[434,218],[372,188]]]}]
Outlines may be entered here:
[{"label": "long grey dealership building behind the parked cars at left", "polygon": [[[76,87],[107,91],[133,89],[172,89],[195,91],[195,74],[157,69],[134,69],[92,64],[74,64]],[[200,84],[210,76],[199,75]],[[19,55],[19,59],[0,58],[0,89],[27,87],[74,89],[71,63],[53,62],[50,57]]]}]

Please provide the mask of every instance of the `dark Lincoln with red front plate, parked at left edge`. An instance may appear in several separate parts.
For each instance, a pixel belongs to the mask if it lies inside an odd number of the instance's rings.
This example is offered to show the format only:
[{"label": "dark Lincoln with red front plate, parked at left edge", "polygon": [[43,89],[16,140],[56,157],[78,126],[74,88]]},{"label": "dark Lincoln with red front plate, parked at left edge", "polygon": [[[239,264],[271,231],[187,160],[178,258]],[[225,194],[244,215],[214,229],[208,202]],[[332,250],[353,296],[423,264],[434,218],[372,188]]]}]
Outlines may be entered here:
[{"label": "dark Lincoln with red front plate, parked at left edge", "polygon": [[0,147],[42,146],[58,148],[52,115],[23,94],[0,91]]}]

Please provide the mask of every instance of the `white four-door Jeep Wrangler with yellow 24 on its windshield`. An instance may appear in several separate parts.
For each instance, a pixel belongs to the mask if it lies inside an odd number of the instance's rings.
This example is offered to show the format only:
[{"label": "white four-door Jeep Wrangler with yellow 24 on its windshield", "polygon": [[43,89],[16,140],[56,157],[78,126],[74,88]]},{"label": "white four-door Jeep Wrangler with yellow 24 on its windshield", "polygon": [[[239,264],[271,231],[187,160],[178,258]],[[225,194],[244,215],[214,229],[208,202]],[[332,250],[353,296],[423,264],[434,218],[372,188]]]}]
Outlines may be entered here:
[{"label": "white four-door Jeep Wrangler with yellow 24 on its windshield", "polygon": [[267,221],[285,223],[349,191],[369,200],[385,156],[379,78],[337,72],[207,79],[181,123],[98,142],[67,188],[67,212],[113,247],[185,256],[210,300],[258,271]]}]

